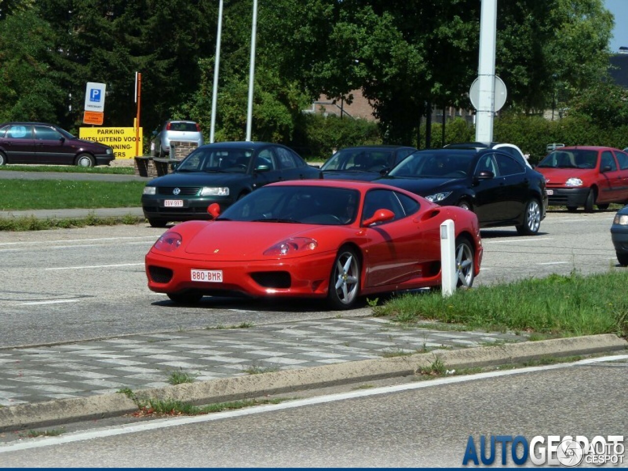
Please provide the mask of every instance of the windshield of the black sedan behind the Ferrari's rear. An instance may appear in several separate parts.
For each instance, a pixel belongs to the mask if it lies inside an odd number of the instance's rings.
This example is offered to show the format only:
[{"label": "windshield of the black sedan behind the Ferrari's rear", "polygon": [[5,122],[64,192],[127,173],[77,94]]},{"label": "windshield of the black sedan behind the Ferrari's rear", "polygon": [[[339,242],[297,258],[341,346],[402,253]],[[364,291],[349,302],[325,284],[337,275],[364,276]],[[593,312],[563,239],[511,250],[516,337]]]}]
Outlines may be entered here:
[{"label": "windshield of the black sedan behind the Ferrari's rear", "polygon": [[464,178],[469,175],[474,151],[419,151],[410,154],[388,175],[416,178]]}]

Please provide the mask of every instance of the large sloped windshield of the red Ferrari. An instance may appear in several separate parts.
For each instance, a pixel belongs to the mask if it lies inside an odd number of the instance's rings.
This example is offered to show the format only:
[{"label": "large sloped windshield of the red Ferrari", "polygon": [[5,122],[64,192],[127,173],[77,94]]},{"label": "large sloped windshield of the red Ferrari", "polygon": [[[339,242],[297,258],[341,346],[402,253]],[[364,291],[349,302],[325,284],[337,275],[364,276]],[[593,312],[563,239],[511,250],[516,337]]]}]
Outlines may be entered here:
[{"label": "large sloped windshield of the red Ferrari", "polygon": [[359,197],[349,188],[263,187],[227,208],[218,220],[351,224]]}]

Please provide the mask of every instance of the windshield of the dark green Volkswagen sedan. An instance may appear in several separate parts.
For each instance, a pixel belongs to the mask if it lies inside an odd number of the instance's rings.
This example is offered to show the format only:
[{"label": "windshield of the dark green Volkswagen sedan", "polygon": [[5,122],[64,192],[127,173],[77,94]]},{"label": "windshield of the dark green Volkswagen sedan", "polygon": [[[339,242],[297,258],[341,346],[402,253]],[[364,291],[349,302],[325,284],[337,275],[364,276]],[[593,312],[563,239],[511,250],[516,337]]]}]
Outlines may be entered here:
[{"label": "windshield of the dark green Volkswagen sedan", "polygon": [[251,149],[199,148],[188,155],[176,171],[246,173],[252,155]]}]

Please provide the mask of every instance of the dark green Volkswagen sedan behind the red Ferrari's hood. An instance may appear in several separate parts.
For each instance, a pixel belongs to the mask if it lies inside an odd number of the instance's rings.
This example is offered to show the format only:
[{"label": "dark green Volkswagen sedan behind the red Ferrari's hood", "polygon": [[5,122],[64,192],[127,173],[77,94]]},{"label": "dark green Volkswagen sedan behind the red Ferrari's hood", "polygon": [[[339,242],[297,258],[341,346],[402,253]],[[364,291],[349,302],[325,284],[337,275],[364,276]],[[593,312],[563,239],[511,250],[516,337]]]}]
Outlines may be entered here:
[{"label": "dark green Volkswagen sedan behind the red Ferrari's hood", "polygon": [[259,187],[280,180],[321,178],[295,151],[281,144],[228,142],[200,146],[173,173],[149,181],[142,195],[144,217],[153,227],[171,221],[211,219]]}]

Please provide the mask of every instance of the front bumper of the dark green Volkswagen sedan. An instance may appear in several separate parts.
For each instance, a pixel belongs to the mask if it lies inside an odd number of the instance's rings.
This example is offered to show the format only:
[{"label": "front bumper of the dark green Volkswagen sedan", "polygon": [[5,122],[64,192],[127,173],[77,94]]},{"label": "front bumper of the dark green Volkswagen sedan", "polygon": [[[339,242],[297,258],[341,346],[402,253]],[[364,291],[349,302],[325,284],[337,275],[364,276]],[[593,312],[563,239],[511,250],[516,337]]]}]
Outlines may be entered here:
[{"label": "front bumper of the dark green Volkswagen sedan", "polygon": [[[183,206],[167,207],[166,200],[180,200],[183,202]],[[208,220],[212,219],[212,216],[208,214],[207,207],[212,203],[218,203],[222,213],[232,205],[233,200],[230,197],[183,199],[175,196],[166,197],[165,195],[142,195],[142,210],[146,219],[164,219],[169,221]]]}]

